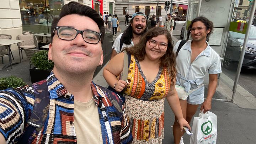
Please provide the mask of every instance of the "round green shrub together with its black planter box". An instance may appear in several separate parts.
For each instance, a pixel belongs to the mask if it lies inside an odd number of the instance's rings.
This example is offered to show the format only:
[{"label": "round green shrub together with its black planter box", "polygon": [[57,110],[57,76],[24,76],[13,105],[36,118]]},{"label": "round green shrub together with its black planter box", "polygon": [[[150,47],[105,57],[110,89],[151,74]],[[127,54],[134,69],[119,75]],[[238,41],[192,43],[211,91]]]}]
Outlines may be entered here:
[{"label": "round green shrub together with its black planter box", "polygon": [[54,63],[48,62],[48,51],[41,50],[32,57],[34,67],[30,69],[30,77],[32,84],[46,79],[53,69]]}]

